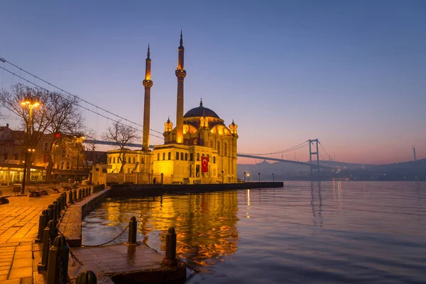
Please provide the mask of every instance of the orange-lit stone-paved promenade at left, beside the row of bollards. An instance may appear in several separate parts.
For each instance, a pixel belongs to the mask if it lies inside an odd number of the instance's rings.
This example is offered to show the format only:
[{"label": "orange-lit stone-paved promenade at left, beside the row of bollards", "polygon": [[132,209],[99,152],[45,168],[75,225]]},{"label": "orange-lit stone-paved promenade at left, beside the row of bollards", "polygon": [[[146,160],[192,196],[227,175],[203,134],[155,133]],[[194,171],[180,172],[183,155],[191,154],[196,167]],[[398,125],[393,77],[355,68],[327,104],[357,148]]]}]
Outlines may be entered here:
[{"label": "orange-lit stone-paved promenade at left, beside the row of bollards", "polygon": [[49,195],[41,197],[15,197],[11,188],[0,187],[0,190],[3,195],[11,195],[8,204],[0,205],[0,283],[33,283],[31,243],[38,233],[41,212],[60,193],[49,190]]}]

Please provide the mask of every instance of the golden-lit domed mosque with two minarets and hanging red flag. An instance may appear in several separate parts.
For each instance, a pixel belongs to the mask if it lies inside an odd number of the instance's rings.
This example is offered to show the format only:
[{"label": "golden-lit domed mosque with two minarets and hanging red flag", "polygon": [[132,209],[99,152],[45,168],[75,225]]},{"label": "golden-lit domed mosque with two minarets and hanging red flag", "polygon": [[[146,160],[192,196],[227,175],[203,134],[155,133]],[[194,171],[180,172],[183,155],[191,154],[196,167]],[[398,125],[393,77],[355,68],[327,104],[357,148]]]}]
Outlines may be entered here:
[{"label": "golden-lit domed mosque with two minarets and hanging red flag", "polygon": [[[141,150],[126,150],[124,173],[143,173],[145,182],[164,183],[216,183],[237,182],[236,141],[238,126],[232,121],[228,126],[212,109],[199,107],[183,111],[183,85],[187,72],[184,69],[182,32],[178,47],[178,98],[176,125],[168,119],[164,124],[164,144],[149,148],[151,114],[151,58],[148,46],[146,58],[145,99],[143,107],[143,137]],[[118,173],[120,151],[108,151],[109,173]]]}]

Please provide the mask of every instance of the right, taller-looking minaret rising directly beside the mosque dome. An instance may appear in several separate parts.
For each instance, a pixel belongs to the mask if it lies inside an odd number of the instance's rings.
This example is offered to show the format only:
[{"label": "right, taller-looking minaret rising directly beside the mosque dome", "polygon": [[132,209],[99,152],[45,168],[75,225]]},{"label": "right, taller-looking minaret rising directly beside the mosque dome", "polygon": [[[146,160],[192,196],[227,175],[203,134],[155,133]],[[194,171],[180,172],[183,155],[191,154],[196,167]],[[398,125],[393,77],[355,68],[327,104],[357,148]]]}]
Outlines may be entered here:
[{"label": "right, taller-looking minaret rising directly beside the mosque dome", "polygon": [[183,80],[186,76],[186,71],[183,69],[183,48],[182,31],[180,31],[180,45],[178,48],[178,68],[175,71],[178,77],[178,104],[176,107],[176,143],[183,143]]}]

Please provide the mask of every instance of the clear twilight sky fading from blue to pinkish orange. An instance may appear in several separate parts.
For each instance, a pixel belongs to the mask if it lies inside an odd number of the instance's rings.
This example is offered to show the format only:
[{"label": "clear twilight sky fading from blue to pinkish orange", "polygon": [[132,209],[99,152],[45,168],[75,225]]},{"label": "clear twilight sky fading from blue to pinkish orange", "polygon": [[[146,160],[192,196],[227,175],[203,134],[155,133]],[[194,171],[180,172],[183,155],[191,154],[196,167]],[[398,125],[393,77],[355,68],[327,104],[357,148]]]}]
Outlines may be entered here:
[{"label": "clear twilight sky fading from blue to pinkish orange", "polygon": [[[234,119],[239,152],[319,138],[336,160],[391,163],[412,160],[413,145],[426,158],[425,15],[422,0],[4,0],[0,58],[142,124],[149,43],[151,129],[163,132],[168,116],[175,124],[182,28],[185,112],[202,97]],[[13,82],[0,70],[0,88]],[[83,113],[98,134],[111,125]],[[307,148],[285,158],[307,160]]]}]

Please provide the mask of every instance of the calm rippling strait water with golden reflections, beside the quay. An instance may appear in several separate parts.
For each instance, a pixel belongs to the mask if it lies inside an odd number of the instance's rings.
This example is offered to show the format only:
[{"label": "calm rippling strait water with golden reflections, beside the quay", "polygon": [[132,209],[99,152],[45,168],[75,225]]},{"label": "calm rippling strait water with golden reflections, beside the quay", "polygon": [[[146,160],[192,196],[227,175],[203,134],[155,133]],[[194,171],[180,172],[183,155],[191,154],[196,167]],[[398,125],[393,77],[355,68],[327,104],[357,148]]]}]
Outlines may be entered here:
[{"label": "calm rippling strait water with golden reflections, beside the quay", "polygon": [[[84,244],[119,234],[202,272],[187,283],[426,283],[426,182],[285,182],[284,188],[107,200]],[[124,234],[117,242],[127,241]]]}]

